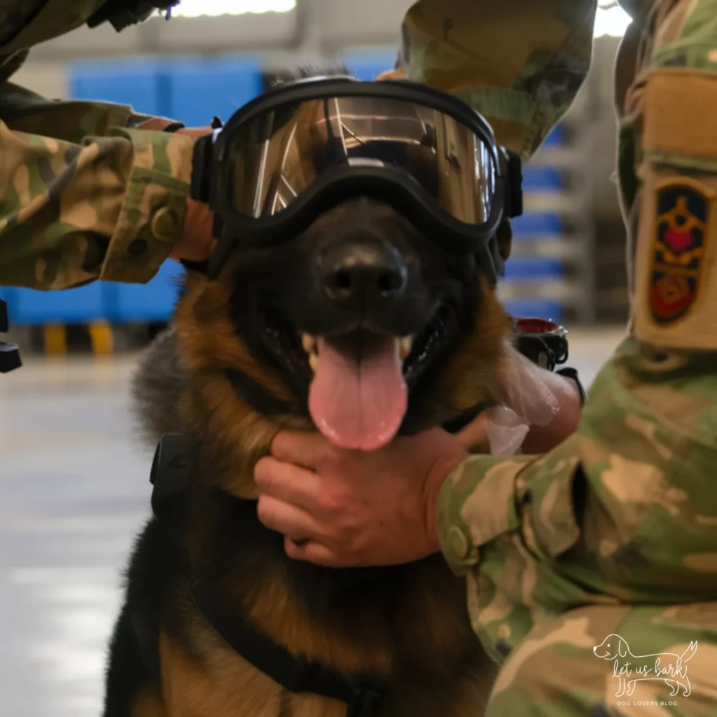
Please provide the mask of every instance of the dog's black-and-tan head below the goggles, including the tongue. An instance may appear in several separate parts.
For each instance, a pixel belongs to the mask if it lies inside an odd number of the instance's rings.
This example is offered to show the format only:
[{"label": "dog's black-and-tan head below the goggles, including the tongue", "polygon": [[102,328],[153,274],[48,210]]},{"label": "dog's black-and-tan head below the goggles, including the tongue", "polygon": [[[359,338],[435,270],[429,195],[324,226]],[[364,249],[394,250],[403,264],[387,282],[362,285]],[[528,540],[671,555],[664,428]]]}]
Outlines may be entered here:
[{"label": "dog's black-and-tan head below the goggles, including the tongue", "polygon": [[[217,280],[189,275],[183,430],[252,456],[281,426],[373,450],[490,403],[508,318],[476,258],[431,231],[354,196],[280,244],[239,242]],[[510,243],[505,220],[503,259]]]}]

